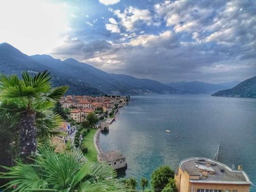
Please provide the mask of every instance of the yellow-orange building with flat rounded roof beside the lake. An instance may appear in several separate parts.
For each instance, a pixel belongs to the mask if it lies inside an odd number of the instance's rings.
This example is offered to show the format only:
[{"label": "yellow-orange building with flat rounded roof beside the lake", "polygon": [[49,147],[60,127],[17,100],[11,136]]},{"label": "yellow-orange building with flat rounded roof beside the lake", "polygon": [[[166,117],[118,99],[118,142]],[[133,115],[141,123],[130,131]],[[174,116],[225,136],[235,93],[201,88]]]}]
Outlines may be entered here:
[{"label": "yellow-orange building with flat rounded roof beside the lake", "polygon": [[178,192],[249,192],[252,184],[240,165],[233,170],[218,161],[187,158],[175,173]]}]

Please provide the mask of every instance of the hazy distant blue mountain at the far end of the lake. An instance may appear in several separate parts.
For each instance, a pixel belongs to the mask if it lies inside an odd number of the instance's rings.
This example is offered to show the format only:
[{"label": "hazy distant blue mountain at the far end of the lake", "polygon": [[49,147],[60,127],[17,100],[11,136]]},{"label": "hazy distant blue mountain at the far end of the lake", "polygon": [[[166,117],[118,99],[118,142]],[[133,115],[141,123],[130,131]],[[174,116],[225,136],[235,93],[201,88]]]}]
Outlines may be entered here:
[{"label": "hazy distant blue mountain at the far end of the lake", "polygon": [[167,86],[180,90],[183,94],[209,94],[219,90],[229,89],[236,86],[239,82],[232,81],[220,84],[190,81],[190,82],[170,82],[166,83]]}]

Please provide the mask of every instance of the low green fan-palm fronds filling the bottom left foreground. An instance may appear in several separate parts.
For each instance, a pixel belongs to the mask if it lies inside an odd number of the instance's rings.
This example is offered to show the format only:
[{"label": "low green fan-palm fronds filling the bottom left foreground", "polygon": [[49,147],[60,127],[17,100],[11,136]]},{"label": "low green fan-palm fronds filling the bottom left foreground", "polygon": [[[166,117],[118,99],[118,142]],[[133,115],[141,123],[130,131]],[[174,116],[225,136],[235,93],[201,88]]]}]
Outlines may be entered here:
[{"label": "low green fan-palm fronds filling the bottom left foreground", "polygon": [[34,164],[17,163],[5,167],[0,179],[11,179],[8,191],[125,191],[113,167],[87,161],[78,151],[56,153],[49,147],[38,147]]}]

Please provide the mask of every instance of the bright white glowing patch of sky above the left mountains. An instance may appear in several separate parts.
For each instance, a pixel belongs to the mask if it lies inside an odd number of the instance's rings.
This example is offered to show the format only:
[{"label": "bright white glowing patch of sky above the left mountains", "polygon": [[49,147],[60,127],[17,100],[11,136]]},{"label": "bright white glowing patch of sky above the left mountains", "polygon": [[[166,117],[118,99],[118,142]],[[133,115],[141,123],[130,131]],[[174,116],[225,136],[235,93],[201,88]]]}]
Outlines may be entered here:
[{"label": "bright white glowing patch of sky above the left mountains", "polygon": [[71,12],[57,2],[0,1],[0,43],[8,42],[29,55],[44,54],[71,29]]}]

